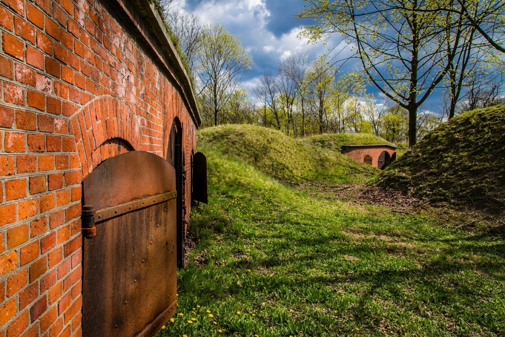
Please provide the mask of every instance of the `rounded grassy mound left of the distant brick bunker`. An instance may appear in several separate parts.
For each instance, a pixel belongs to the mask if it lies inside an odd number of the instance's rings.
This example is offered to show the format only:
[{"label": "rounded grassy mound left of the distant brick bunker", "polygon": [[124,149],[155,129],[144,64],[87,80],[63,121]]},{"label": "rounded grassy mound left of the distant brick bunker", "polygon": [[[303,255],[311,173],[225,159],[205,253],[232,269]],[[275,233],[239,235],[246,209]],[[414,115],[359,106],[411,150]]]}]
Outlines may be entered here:
[{"label": "rounded grassy mound left of the distant brick bunker", "polygon": [[340,152],[308,145],[282,132],[252,125],[223,125],[203,129],[199,141],[254,165],[281,181],[307,180],[328,184],[365,180],[378,172]]}]

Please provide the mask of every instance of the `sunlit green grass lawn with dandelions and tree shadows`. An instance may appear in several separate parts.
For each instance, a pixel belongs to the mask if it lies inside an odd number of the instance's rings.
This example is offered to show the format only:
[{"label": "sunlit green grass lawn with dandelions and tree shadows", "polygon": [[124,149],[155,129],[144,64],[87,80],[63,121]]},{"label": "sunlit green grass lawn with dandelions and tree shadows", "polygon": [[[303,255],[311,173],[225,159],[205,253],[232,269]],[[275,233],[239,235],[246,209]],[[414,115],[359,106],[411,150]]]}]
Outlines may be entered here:
[{"label": "sunlit green grass lawn with dandelions and tree shadows", "polygon": [[199,150],[209,205],[157,337],[505,335],[503,234],[309,196]]}]

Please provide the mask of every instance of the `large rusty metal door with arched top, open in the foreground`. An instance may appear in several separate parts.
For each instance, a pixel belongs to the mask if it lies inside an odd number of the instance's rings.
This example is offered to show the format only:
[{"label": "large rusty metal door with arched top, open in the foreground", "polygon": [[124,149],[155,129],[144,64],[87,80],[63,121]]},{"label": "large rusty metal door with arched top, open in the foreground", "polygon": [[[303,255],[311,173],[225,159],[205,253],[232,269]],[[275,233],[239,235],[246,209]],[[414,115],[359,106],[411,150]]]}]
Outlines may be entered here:
[{"label": "large rusty metal door with arched top, open in the foreground", "polygon": [[83,336],[150,337],[174,314],[175,189],[174,168],[140,151],[84,179]]}]

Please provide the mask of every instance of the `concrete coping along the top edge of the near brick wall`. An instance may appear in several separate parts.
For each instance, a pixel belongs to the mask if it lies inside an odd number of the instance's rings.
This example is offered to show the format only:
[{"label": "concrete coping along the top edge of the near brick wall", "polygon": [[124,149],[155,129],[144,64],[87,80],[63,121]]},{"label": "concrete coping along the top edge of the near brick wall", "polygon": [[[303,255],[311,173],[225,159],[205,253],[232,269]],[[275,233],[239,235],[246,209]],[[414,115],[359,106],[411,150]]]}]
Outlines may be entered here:
[{"label": "concrete coping along the top edge of the near brick wall", "polygon": [[[191,85],[191,81],[186,72],[186,68],[184,67],[181,61],[181,58],[179,57],[179,53],[177,52],[177,49],[175,48],[170,36],[168,35],[167,29],[165,28],[165,22],[161,18],[156,7],[153,4],[151,4],[149,0],[115,0],[115,1],[125,11],[127,18],[132,21],[133,25],[139,31],[142,31],[142,29],[135,24],[135,20],[132,17],[133,13],[129,13],[127,8],[127,3],[134,4],[136,9],[138,10],[138,13],[136,14],[139,14],[141,18],[145,20],[145,23],[147,23],[146,26],[149,28],[149,30],[151,30],[151,33],[156,35],[156,37],[158,38],[158,42],[160,43],[160,47],[163,51],[163,54],[165,54],[164,56],[168,59],[168,61],[170,61],[170,65],[173,67],[173,71],[175,73],[172,75],[177,77],[174,79],[176,80],[177,84],[180,86],[180,89],[182,90],[183,93],[182,97],[186,103],[186,106],[188,107],[189,114],[191,115],[191,118],[193,119],[196,127],[198,127],[201,123],[201,117],[198,111],[198,107],[196,105],[196,98],[194,95],[193,87]],[[155,54],[159,56],[157,53]],[[160,61],[164,63],[163,62],[164,60]],[[171,69],[168,70],[170,72]]]}]

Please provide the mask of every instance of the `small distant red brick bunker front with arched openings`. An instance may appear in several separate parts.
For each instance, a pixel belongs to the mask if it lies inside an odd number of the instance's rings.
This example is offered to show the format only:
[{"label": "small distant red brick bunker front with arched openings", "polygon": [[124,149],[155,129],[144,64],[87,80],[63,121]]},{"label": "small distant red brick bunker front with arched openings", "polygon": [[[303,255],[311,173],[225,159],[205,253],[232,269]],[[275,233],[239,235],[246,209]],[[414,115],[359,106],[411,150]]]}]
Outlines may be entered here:
[{"label": "small distant red brick bunker front with arched openings", "polygon": [[396,147],[389,144],[342,145],[342,154],[365,163],[384,169],[396,159]]}]

